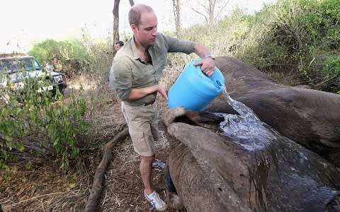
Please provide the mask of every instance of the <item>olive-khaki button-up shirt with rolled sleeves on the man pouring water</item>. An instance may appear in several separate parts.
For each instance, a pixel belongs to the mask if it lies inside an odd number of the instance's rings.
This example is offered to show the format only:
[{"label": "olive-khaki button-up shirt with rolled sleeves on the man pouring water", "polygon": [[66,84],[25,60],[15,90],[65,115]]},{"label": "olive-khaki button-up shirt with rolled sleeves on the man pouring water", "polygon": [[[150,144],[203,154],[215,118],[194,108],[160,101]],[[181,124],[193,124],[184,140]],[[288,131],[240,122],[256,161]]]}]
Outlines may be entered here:
[{"label": "olive-khaki button-up shirt with rolled sleeves on the man pouring water", "polygon": [[[132,37],[115,54],[111,66],[110,83],[118,98],[128,98],[132,88],[145,88],[157,85],[166,64],[167,53],[183,52],[191,54],[194,45],[194,42],[179,40],[158,33],[156,43],[148,49],[152,63],[146,64],[137,54],[135,41]],[[152,102],[156,95],[157,93],[151,93],[144,98],[125,103],[132,106],[144,105],[147,102]]]}]

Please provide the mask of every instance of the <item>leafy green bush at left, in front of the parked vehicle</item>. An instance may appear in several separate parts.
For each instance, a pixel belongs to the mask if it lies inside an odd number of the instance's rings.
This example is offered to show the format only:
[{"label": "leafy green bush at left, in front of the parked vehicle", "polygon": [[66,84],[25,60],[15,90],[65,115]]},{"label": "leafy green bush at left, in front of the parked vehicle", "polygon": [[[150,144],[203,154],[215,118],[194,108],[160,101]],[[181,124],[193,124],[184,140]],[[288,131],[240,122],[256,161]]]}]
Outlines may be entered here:
[{"label": "leafy green bush at left, in front of the parked vehicle", "polygon": [[[47,75],[47,73],[46,73]],[[60,168],[68,170],[77,164],[82,136],[89,134],[86,122],[86,102],[72,95],[69,105],[57,90],[38,93],[49,81],[27,78],[23,90],[13,90],[8,84],[0,102],[0,164],[27,158],[55,158]],[[81,93],[80,93],[81,95]]]}]

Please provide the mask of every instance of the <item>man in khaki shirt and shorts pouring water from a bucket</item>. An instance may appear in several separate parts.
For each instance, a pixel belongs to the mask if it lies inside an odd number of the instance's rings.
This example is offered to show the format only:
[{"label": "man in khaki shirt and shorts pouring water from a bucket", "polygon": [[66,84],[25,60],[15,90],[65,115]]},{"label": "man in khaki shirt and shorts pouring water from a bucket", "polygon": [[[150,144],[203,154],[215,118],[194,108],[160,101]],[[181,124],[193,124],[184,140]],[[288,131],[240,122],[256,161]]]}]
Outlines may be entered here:
[{"label": "man in khaki shirt and shorts pouring water from a bucket", "polygon": [[122,100],[122,112],[128,123],[134,150],[140,155],[140,174],[145,199],[157,211],[165,211],[166,203],[152,184],[152,163],[155,161],[154,141],[159,139],[157,93],[168,99],[167,90],[159,85],[168,52],[195,52],[202,60],[195,66],[211,76],[215,57],[199,42],[180,40],[157,33],[157,16],[150,6],[136,4],[129,11],[133,36],[113,58],[110,83]]}]

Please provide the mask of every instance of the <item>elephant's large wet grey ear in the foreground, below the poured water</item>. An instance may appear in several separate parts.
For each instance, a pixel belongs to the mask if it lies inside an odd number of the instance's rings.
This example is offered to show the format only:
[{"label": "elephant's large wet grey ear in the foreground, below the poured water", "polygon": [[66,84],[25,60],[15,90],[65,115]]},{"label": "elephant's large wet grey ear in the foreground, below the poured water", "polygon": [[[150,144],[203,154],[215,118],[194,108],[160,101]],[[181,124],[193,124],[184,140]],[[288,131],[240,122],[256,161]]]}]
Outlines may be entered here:
[{"label": "elephant's large wet grey ear in the foreground, below the poured water", "polygon": [[[220,121],[214,114],[183,107],[165,112],[171,147],[166,176],[174,186],[167,188],[169,206],[187,211],[340,211],[340,171],[329,161],[265,123],[273,136],[261,140],[261,148],[245,148],[242,139],[218,133]],[[175,197],[183,206],[171,205]]]}]

